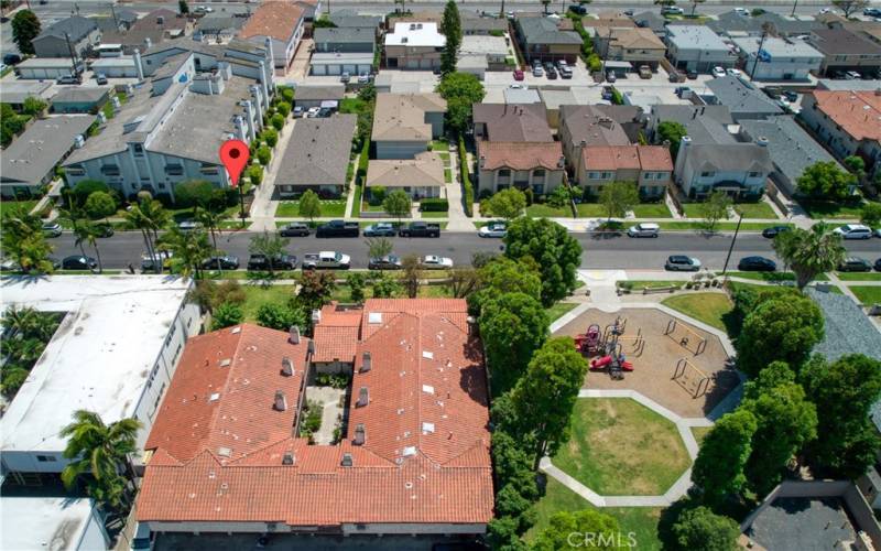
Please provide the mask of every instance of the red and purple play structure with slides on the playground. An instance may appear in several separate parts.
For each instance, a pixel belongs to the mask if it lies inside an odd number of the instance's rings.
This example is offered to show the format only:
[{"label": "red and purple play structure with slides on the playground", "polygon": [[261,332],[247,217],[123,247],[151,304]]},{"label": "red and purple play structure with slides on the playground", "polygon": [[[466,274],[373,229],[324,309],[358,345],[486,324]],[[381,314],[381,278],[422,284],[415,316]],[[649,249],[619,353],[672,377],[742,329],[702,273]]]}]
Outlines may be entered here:
[{"label": "red and purple play structure with slides on the playground", "polygon": [[626,329],[627,318],[621,317],[603,331],[598,324],[590,324],[587,332],[575,336],[575,349],[588,357],[597,356],[590,360],[591,371],[607,371],[612,379],[623,379],[624,371],[633,370],[633,364],[624,356],[624,346],[630,348],[628,354],[637,357],[645,349],[642,329],[637,329],[635,335],[624,335]]}]

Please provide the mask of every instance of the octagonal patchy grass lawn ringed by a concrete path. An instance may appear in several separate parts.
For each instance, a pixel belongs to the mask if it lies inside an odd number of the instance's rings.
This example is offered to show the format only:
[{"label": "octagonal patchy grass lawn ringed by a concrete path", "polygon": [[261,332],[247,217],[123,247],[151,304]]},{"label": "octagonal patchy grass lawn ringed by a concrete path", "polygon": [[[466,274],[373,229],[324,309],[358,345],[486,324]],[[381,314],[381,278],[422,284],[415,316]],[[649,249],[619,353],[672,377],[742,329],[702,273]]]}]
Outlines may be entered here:
[{"label": "octagonal patchy grass lawn ringed by a concrete path", "polygon": [[676,426],[629,398],[575,403],[572,439],[554,465],[600,495],[660,495],[690,460]]}]

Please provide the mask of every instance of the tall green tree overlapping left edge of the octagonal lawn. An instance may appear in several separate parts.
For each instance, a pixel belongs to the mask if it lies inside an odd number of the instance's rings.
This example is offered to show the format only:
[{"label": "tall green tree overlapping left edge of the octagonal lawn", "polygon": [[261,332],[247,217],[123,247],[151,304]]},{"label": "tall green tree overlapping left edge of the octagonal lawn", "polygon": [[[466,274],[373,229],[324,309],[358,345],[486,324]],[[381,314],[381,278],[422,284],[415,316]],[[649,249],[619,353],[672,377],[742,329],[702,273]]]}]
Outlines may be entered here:
[{"label": "tall green tree overlapping left edge of the octagonal lawn", "polygon": [[569,440],[569,419],[585,380],[587,361],[570,337],[546,341],[530,360],[511,393],[516,415],[534,443],[533,466]]}]

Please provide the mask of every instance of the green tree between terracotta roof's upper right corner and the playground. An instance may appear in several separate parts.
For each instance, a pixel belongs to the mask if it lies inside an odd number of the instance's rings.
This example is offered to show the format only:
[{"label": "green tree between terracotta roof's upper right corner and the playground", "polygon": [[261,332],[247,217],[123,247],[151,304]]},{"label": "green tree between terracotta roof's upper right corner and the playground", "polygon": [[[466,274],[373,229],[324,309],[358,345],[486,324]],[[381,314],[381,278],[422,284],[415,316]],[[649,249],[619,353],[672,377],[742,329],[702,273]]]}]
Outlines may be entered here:
[{"label": "green tree between terracotta roof's upper right corner and the playground", "polygon": [[493,392],[513,387],[547,337],[548,320],[542,304],[523,293],[504,293],[483,304],[480,336]]}]

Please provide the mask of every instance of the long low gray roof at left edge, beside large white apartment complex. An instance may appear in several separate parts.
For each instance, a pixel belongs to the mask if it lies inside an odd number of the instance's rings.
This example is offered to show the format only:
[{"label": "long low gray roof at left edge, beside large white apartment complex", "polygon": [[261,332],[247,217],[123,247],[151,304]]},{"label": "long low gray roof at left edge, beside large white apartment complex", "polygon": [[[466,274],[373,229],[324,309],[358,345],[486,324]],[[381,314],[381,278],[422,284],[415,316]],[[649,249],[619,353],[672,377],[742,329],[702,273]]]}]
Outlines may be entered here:
[{"label": "long low gray roof at left edge, beside large white apartment complex", "polygon": [[[91,116],[61,116],[40,119],[0,151],[0,194],[32,196],[55,177],[55,166],[81,147]],[[78,150],[77,150],[78,151]]]}]

